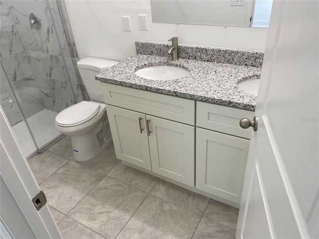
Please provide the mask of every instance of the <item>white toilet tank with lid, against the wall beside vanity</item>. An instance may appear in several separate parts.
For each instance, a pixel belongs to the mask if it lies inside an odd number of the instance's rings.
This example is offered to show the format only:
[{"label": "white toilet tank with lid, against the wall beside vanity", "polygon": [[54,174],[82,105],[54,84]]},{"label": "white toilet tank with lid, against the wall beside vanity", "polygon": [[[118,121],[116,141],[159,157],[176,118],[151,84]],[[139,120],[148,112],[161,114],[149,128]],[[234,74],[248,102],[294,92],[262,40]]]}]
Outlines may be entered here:
[{"label": "white toilet tank with lid, against the wall beside vanity", "polygon": [[90,100],[104,102],[100,87],[101,83],[95,80],[95,75],[99,72],[105,71],[117,63],[119,62],[94,57],[86,57],[78,61],[77,67]]}]

